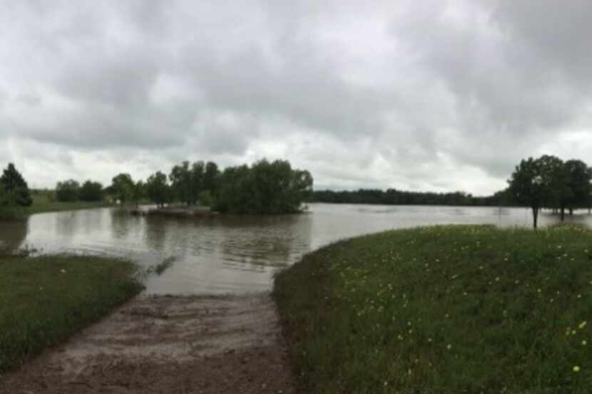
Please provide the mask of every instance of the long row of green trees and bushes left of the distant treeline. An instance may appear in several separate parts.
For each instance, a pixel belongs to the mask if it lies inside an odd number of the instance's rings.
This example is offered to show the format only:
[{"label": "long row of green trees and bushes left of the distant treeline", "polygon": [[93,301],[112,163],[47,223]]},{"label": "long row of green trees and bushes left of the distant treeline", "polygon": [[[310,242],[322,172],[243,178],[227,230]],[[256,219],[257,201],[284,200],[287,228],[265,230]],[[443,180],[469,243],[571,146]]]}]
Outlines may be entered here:
[{"label": "long row of green trees and bushes left of the distant treeline", "polygon": [[147,180],[133,180],[128,173],[113,177],[103,189],[98,182],[58,182],[59,201],[97,201],[110,196],[121,204],[138,205],[146,199],[158,207],[181,203],[207,205],[218,212],[280,214],[299,212],[312,192],[312,176],[292,169],[286,160],[260,160],[252,165],[226,167],[215,162],[175,165],[166,175],[157,171]]}]

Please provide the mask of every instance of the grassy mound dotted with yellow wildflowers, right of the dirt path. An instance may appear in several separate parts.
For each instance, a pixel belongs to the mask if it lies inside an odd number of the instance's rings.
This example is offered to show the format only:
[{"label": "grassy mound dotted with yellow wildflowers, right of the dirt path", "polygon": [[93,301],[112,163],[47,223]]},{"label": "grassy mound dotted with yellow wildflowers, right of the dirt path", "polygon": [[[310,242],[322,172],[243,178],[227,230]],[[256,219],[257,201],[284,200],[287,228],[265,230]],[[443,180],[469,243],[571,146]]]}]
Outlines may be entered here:
[{"label": "grassy mound dotted with yellow wildflowers, right of the dirt path", "polygon": [[588,393],[592,232],[427,227],[277,276],[301,393]]}]

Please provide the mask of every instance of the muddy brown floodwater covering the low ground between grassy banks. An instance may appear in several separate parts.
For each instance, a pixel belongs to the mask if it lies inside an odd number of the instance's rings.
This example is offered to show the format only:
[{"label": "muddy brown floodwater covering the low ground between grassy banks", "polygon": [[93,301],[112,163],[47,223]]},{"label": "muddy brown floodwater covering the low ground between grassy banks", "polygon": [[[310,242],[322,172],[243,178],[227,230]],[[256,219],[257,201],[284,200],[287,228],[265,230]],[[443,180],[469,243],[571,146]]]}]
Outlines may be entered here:
[{"label": "muddy brown floodwater covering the low ground between grassy banks", "polygon": [[[310,212],[274,217],[135,217],[118,209],[35,214],[0,222],[0,246],[39,253],[119,256],[142,266],[174,264],[150,276],[148,294],[240,294],[268,290],[273,274],[339,239],[429,224],[531,226],[529,209],[310,204]],[[592,224],[592,216],[568,220]],[[542,226],[557,222],[541,214]]]}]

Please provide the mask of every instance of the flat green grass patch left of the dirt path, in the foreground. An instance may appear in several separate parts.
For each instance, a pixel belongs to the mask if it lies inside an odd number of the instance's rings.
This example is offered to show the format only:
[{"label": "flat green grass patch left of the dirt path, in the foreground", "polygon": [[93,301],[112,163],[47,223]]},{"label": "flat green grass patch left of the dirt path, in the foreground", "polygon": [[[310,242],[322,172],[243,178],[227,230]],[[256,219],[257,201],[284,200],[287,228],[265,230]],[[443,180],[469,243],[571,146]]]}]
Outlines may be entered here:
[{"label": "flat green grass patch left of the dirt path, in the foreground", "polygon": [[138,294],[133,264],[93,256],[0,256],[0,371]]}]

